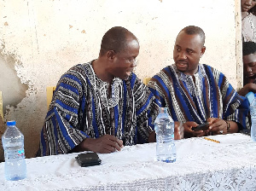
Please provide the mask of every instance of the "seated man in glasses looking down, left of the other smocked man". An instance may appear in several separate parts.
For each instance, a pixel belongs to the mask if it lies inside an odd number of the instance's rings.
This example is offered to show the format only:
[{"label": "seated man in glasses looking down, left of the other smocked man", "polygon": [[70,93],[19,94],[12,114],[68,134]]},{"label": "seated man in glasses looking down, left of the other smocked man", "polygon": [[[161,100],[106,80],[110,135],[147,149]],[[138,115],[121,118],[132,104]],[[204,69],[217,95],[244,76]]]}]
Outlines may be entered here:
[{"label": "seated man in glasses looking down, left of the other smocked man", "polygon": [[[133,73],[139,54],[137,38],[116,26],[102,38],[96,60],[61,76],[41,133],[38,156],[81,152],[111,153],[155,142],[158,105]],[[175,138],[180,132],[176,124]]]}]

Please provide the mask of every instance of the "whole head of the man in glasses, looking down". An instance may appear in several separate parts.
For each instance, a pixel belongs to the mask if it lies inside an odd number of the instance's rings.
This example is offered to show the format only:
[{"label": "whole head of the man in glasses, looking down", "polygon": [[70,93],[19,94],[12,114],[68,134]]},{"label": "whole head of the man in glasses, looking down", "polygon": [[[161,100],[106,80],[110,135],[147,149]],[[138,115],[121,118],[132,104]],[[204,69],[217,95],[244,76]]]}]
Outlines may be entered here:
[{"label": "whole head of the man in glasses, looking down", "polygon": [[108,74],[121,79],[128,78],[139,54],[139,43],[134,34],[121,26],[108,30],[102,38],[100,56],[108,59]]}]

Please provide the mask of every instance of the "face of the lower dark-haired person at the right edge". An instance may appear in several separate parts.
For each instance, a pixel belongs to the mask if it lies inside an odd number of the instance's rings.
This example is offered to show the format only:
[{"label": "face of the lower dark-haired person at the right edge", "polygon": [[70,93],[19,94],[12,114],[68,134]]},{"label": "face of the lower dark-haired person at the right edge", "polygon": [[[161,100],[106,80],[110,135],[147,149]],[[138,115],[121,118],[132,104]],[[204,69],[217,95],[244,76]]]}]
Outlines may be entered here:
[{"label": "face of the lower dark-haired person at the right edge", "polygon": [[249,81],[254,81],[256,78],[256,53],[244,55],[242,60],[244,75],[249,79]]}]

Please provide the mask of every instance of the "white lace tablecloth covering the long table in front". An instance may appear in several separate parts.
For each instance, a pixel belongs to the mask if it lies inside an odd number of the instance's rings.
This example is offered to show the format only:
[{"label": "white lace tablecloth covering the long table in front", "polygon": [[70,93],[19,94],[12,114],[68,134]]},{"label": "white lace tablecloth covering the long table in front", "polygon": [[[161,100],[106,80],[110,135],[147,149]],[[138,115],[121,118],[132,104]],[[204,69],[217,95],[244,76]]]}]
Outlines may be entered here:
[{"label": "white lace tablecloth covering the long table in front", "polygon": [[80,167],[78,153],[26,159],[27,177],[0,190],[256,190],[256,143],[232,134],[176,141],[177,161],[156,161],[155,143],[99,154],[102,165]]}]

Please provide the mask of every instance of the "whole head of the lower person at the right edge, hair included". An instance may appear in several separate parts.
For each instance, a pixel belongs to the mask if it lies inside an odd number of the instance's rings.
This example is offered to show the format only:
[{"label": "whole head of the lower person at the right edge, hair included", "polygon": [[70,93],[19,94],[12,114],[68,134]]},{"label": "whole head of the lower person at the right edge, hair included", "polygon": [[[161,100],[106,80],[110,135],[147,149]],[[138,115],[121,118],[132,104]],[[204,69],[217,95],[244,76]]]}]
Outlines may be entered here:
[{"label": "whole head of the lower person at the right edge, hair included", "polygon": [[254,81],[256,78],[256,43],[242,43],[243,72],[247,81]]}]

